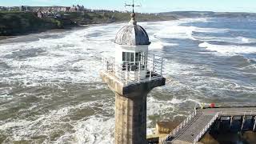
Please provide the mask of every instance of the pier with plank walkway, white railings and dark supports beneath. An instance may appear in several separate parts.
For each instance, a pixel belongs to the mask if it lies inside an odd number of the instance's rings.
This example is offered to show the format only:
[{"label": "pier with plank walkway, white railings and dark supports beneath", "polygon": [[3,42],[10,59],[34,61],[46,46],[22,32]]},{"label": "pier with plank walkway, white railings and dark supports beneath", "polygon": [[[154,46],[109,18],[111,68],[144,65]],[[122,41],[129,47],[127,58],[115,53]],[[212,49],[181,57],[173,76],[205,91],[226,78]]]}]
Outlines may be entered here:
[{"label": "pier with plank walkway, white railings and dark supports beneath", "polygon": [[230,130],[255,131],[256,106],[230,106],[196,109],[161,143],[200,143],[208,130],[226,125]]}]

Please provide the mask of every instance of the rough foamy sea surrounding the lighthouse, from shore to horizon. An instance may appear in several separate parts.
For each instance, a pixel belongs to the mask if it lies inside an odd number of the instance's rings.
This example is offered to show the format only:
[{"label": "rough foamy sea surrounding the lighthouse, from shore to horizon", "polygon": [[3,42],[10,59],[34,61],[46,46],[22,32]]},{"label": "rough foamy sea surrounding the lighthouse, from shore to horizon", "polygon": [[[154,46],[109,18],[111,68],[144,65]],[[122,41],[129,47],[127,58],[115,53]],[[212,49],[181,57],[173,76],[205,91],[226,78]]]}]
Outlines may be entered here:
[{"label": "rough foamy sea surrounding the lighthouse, from shore to horizon", "polygon": [[[0,143],[114,143],[114,94],[99,70],[125,25],[1,40]],[[150,53],[165,60],[166,86],[147,97],[147,134],[197,106],[256,102],[256,18],[138,25],[149,34]]]}]

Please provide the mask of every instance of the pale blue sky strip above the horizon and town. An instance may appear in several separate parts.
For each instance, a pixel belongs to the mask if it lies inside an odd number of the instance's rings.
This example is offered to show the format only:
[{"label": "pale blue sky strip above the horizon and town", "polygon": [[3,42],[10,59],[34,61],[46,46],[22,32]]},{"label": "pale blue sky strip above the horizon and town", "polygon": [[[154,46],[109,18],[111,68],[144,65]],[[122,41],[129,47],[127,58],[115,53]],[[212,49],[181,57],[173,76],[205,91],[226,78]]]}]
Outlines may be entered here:
[{"label": "pale blue sky strip above the horizon and town", "polygon": [[[0,6],[71,6],[81,4],[91,9],[130,10],[124,3],[132,0],[0,0]],[[142,7],[138,12],[180,10],[210,10],[228,12],[255,12],[256,0],[135,0]]]}]

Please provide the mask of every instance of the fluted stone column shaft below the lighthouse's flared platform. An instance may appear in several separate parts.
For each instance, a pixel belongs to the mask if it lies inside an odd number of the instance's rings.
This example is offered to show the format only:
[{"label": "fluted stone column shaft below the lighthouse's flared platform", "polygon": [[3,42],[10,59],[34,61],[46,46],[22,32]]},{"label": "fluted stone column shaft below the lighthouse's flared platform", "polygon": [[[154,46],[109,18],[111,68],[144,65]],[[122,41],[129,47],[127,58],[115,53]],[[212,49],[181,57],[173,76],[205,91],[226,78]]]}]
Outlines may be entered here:
[{"label": "fluted stone column shaft below the lighthouse's flared platform", "polygon": [[115,94],[116,144],[146,143],[146,94],[126,98]]}]

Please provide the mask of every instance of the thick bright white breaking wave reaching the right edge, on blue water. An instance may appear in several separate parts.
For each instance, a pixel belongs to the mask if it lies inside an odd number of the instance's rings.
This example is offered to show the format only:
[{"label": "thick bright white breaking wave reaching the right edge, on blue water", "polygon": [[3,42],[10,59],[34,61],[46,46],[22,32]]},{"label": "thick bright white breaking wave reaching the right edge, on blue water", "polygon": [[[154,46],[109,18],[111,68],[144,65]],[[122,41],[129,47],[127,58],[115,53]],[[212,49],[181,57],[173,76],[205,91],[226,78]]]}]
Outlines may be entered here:
[{"label": "thick bright white breaking wave reaching the right edge, on blue water", "polygon": [[215,51],[218,54],[222,55],[238,55],[238,54],[256,54],[256,47],[254,46],[222,46],[222,45],[213,45],[208,42],[202,42],[199,44],[199,47],[206,48],[206,50]]}]

